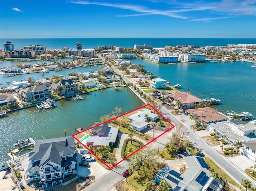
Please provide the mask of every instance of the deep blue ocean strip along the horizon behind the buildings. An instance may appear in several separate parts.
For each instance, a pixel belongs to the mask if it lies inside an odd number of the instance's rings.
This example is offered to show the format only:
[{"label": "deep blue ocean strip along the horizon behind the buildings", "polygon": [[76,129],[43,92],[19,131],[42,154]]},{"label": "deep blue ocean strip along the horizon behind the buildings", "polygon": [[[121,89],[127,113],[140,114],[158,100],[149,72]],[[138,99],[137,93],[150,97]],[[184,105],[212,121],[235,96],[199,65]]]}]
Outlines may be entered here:
[{"label": "deep blue ocean strip along the horizon behind the buildings", "polygon": [[14,47],[22,49],[26,45],[46,45],[46,49],[61,49],[65,46],[76,48],[76,42],[81,42],[83,48],[96,48],[104,45],[134,47],[134,44],[152,44],[153,47],[165,45],[199,45],[226,46],[228,44],[255,44],[256,39],[224,39],[224,38],[1,38],[0,49],[7,40],[14,43]]}]

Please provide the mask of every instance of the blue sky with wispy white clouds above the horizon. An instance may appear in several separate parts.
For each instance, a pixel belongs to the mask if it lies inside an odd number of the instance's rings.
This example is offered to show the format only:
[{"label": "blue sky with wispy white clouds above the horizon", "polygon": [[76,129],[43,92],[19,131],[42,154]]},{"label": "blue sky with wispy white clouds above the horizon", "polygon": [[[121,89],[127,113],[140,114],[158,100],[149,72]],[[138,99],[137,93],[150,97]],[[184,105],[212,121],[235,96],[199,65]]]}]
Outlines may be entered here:
[{"label": "blue sky with wispy white clouds above the horizon", "polygon": [[0,37],[256,38],[256,0],[0,0]]}]

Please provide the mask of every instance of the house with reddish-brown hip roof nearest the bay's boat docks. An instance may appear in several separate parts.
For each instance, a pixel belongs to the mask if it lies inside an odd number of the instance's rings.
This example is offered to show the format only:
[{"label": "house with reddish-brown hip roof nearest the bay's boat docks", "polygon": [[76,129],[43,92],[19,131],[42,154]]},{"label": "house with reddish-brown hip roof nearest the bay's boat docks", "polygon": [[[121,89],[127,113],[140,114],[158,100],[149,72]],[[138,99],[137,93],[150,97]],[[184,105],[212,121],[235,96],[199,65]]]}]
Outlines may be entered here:
[{"label": "house with reddish-brown hip roof nearest the bay's boat docks", "polygon": [[168,98],[174,104],[180,101],[182,109],[192,109],[195,108],[195,104],[203,102],[202,99],[186,92],[168,94]]}]

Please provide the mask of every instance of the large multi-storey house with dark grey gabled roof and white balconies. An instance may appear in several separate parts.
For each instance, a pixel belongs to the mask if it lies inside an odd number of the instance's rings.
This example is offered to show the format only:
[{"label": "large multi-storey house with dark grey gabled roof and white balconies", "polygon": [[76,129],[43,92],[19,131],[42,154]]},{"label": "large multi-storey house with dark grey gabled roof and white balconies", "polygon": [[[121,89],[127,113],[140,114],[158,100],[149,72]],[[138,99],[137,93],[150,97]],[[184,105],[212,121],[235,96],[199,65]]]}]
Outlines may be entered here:
[{"label": "large multi-storey house with dark grey gabled roof and white balconies", "polygon": [[77,151],[72,136],[36,141],[29,153],[26,183],[39,180],[46,187],[62,184],[66,175],[76,173]]}]

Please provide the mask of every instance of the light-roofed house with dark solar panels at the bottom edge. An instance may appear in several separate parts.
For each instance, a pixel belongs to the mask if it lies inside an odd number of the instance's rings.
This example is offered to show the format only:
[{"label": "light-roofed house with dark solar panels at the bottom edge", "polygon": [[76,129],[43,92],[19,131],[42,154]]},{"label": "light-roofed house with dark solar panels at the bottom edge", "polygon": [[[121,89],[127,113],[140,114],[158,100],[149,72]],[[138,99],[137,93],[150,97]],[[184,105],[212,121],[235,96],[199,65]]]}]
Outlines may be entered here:
[{"label": "light-roofed house with dark solar panels at the bottom edge", "polygon": [[221,191],[224,183],[214,179],[202,157],[187,156],[186,171],[180,174],[170,167],[162,168],[155,176],[154,183],[166,180],[172,185],[172,191]]}]

